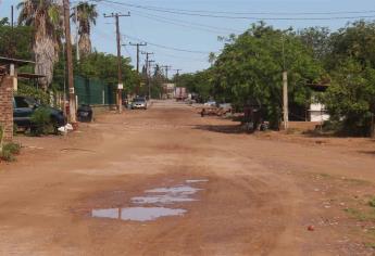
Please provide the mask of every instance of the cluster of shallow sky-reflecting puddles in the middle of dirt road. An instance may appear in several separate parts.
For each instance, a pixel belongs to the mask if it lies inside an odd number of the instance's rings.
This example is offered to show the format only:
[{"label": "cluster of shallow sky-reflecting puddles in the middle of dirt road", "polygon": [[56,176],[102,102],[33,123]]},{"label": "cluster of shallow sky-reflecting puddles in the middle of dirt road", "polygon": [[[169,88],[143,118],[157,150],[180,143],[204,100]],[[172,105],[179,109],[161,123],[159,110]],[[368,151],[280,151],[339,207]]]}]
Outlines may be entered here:
[{"label": "cluster of shallow sky-reflecting puddles in the middle of dirt road", "polygon": [[198,201],[193,196],[203,189],[192,187],[192,184],[208,181],[207,179],[190,179],[186,180],[184,184],[175,187],[146,190],[145,195],[130,199],[133,207],[92,209],[91,217],[125,221],[152,221],[161,217],[184,216],[187,213],[186,209],[172,208],[172,205]]}]

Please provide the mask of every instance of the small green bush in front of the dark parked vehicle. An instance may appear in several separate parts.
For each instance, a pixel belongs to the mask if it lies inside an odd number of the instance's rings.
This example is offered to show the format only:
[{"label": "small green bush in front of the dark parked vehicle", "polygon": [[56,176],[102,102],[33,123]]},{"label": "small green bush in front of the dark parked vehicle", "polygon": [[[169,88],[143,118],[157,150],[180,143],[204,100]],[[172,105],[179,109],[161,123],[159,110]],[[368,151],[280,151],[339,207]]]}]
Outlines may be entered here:
[{"label": "small green bush in front of the dark parked vehicle", "polygon": [[43,136],[54,130],[51,112],[47,107],[38,107],[32,115],[32,135]]}]

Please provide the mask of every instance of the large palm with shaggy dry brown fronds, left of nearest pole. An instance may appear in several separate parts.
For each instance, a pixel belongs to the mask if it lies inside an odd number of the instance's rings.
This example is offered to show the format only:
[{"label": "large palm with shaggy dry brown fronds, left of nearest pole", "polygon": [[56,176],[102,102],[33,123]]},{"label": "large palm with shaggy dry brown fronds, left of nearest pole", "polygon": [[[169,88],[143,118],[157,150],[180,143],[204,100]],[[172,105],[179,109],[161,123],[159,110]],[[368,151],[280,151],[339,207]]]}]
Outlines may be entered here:
[{"label": "large palm with shaggy dry brown fronds, left of nearest pole", "polygon": [[53,0],[23,0],[17,9],[21,9],[18,24],[34,28],[35,73],[46,76],[39,84],[47,90],[52,82],[53,65],[59,60],[61,7]]}]

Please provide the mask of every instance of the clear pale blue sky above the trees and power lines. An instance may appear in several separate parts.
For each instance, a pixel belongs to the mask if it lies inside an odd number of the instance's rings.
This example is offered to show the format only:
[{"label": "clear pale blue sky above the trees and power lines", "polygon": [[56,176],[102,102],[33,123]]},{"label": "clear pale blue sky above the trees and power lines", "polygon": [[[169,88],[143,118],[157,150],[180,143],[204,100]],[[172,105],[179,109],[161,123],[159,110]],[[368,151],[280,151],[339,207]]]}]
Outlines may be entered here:
[{"label": "clear pale blue sky above the trees and power lines", "polygon": [[[11,5],[18,2],[0,0],[0,17],[9,17]],[[71,1],[71,5],[76,2]],[[104,18],[103,14],[130,12],[130,16],[121,17],[120,21],[123,43],[148,42],[142,50],[153,52],[151,59],[155,63],[171,65],[171,76],[176,72],[173,69],[177,68],[182,69],[180,73],[193,73],[209,67],[209,53],[217,53],[223,48],[218,36],[241,34],[262,18],[271,18],[266,20],[266,24],[276,28],[327,26],[332,30],[358,20],[353,17],[375,20],[374,0],[108,0],[95,3],[99,13],[91,36],[95,49],[116,54],[114,18]],[[312,20],[277,20],[285,17]],[[316,17],[345,18],[313,20]],[[72,27],[73,33],[74,29]],[[122,53],[136,65],[135,47],[123,47]],[[145,56],[141,55],[140,60],[142,65]]]}]

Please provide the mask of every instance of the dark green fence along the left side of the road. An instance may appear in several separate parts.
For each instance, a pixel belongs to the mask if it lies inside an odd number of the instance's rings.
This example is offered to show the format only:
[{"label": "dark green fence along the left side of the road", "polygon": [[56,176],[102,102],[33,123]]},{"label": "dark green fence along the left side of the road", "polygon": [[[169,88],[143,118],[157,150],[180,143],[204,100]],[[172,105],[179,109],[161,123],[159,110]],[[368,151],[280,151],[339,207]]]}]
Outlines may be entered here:
[{"label": "dark green fence along the left side of the road", "polygon": [[74,88],[79,105],[113,105],[116,102],[116,88],[114,85],[75,76]]}]

